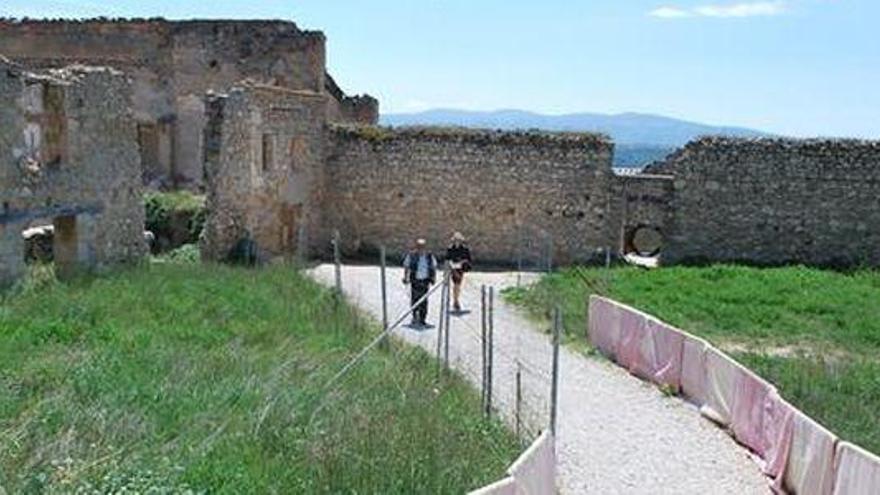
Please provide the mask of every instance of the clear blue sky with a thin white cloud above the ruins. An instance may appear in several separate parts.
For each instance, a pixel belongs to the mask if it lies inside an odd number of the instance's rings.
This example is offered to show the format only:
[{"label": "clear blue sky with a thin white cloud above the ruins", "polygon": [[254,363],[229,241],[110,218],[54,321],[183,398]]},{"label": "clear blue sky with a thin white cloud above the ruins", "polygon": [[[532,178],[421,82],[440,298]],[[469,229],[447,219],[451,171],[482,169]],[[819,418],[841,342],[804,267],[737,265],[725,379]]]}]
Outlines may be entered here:
[{"label": "clear blue sky with a thin white cloud above the ruins", "polygon": [[2,0],[0,15],[294,20],[325,32],[330,72],[384,112],[634,111],[880,138],[877,0],[101,3]]}]

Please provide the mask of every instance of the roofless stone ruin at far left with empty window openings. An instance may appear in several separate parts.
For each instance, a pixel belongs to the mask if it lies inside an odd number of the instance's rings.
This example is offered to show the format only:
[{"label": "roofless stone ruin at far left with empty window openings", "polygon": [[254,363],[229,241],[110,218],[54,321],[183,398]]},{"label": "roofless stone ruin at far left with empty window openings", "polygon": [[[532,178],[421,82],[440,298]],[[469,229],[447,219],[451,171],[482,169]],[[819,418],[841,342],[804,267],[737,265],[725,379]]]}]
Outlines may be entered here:
[{"label": "roofless stone ruin at far left with empty window openings", "polygon": [[22,231],[55,227],[62,271],[144,253],[131,86],[105,68],[36,75],[0,58],[0,284],[25,269]]}]

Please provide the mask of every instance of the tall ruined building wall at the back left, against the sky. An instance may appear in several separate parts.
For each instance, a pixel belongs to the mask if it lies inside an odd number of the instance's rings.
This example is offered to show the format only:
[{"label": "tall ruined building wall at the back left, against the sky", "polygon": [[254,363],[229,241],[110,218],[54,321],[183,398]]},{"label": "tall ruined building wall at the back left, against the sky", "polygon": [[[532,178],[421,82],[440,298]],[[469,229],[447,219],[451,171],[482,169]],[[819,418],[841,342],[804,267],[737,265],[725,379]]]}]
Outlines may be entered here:
[{"label": "tall ruined building wall at the back left, against the sky", "polygon": [[287,21],[0,20],[0,49],[26,67],[85,63],[128,74],[145,181],[194,188],[203,185],[207,91],[251,79],[330,95],[321,120],[376,122],[374,98],[346,96],[326,74],[325,41]]}]

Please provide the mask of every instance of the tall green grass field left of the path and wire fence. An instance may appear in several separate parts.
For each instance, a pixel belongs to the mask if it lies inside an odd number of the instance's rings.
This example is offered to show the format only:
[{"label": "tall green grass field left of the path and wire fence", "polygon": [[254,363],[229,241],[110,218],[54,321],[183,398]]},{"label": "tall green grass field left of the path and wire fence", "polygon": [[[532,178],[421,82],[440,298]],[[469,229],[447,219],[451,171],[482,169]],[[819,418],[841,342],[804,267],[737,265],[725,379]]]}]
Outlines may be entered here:
[{"label": "tall green grass field left of the path and wire fence", "polygon": [[[286,266],[160,263],[0,306],[9,493],[463,493],[516,439],[426,354]],[[0,490],[2,492],[3,490]]]}]

